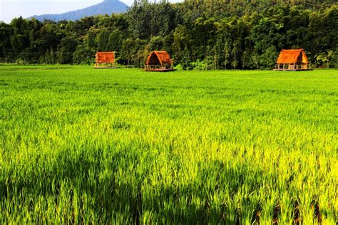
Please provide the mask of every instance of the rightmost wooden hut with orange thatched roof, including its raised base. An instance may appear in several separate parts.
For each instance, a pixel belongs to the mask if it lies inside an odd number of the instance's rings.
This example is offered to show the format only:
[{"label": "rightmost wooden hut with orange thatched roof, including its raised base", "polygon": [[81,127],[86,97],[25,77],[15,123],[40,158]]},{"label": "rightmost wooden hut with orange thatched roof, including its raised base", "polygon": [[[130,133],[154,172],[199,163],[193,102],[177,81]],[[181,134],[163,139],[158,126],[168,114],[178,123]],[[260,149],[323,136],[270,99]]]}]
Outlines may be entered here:
[{"label": "rightmost wooden hut with orange thatched roof, including its raised base", "polygon": [[282,49],[277,58],[275,70],[309,70],[309,61],[302,48]]}]

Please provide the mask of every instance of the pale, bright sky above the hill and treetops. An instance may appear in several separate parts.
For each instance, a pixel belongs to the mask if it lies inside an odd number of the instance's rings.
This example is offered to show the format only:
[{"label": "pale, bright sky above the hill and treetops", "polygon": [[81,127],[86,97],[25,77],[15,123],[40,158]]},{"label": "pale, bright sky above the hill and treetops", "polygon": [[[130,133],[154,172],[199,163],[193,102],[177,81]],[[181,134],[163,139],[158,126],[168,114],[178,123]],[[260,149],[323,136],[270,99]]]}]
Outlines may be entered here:
[{"label": "pale, bright sky above the hill and treetops", "polygon": [[[93,6],[103,0],[0,0],[0,21],[11,22],[14,17],[29,16],[41,14],[61,14],[67,11],[83,9]],[[134,0],[120,0],[128,6],[133,4]],[[170,2],[179,2],[182,0],[170,0]]]}]

